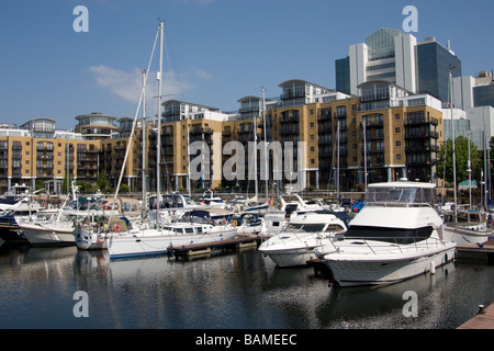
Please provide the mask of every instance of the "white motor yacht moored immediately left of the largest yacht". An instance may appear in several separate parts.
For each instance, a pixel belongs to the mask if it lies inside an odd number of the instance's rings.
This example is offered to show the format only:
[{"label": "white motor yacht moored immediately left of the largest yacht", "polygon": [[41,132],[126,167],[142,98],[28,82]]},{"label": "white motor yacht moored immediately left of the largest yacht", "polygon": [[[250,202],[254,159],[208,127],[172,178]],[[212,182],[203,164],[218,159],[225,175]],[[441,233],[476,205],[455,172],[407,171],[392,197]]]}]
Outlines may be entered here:
[{"label": "white motor yacht moored immediately left of the largest yacht", "polygon": [[304,265],[315,258],[314,249],[324,240],[344,234],[344,220],[328,212],[307,212],[292,217],[288,227],[259,246],[279,267]]}]

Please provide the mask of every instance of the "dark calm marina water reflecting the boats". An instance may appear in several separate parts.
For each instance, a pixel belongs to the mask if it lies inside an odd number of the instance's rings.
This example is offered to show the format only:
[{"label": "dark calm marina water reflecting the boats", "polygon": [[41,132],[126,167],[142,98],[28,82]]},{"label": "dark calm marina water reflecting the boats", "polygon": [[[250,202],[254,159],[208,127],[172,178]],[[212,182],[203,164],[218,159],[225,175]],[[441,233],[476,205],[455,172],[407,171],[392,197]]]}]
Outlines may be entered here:
[{"label": "dark calm marina water reflecting the boats", "polygon": [[[450,329],[494,302],[494,267],[449,263],[378,288],[328,286],[312,268],[278,269],[255,248],[176,260],[110,261],[105,251],[0,247],[0,328]],[[75,317],[88,294],[89,317]],[[405,317],[403,294],[418,295]]]}]

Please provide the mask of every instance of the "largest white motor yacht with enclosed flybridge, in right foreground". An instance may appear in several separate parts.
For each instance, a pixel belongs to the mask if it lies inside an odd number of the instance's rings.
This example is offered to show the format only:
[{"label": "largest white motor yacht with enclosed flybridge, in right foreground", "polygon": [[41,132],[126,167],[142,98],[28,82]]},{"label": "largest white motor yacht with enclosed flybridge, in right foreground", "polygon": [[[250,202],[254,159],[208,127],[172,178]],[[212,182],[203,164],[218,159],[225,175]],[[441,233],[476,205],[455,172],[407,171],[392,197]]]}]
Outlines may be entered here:
[{"label": "largest white motor yacht with enclosed flybridge, in right foreground", "polygon": [[344,238],[326,241],[316,256],[340,286],[394,283],[452,260],[456,244],[441,239],[434,189],[419,182],[369,184],[366,206]]}]

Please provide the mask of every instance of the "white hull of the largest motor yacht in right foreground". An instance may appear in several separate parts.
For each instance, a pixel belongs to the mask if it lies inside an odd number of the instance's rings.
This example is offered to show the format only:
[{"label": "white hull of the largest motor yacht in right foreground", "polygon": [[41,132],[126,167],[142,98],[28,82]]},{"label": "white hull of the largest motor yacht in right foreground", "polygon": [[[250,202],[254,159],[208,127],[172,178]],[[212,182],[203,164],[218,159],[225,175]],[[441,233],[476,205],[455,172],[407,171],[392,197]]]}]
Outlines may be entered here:
[{"label": "white hull of the largest motor yacht in right foreground", "polygon": [[325,264],[341,287],[396,283],[430,271],[454,258],[454,244],[420,254],[396,254],[395,258],[346,258],[335,252],[325,257]]}]

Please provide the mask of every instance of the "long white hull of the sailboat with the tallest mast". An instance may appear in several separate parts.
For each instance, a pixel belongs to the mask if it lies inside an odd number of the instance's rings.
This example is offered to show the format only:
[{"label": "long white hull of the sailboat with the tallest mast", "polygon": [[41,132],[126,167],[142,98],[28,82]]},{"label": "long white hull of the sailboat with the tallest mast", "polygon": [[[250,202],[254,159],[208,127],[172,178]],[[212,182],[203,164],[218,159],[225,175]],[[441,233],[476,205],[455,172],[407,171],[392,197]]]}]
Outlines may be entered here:
[{"label": "long white hull of the sailboat with the tallest mast", "polygon": [[147,233],[147,235],[139,235],[136,233],[125,235],[112,235],[106,238],[108,250],[110,258],[126,258],[139,257],[150,254],[167,253],[172,248],[180,248],[182,246],[192,244],[206,244],[213,241],[221,241],[233,239],[237,236],[235,228],[222,230],[217,233],[204,234],[180,234],[180,235],[160,235],[160,231]]}]

